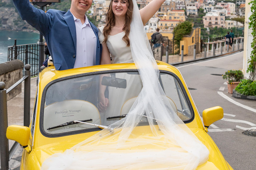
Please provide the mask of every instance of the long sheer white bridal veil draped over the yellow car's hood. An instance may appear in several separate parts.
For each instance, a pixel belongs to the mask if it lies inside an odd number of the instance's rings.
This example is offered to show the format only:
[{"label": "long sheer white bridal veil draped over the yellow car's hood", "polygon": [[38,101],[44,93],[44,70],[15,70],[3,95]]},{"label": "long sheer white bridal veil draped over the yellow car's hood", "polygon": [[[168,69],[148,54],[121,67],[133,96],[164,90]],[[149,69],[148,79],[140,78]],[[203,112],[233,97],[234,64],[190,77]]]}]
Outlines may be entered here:
[{"label": "long sheer white bridal veil draped over the yellow car's hood", "polygon": [[[136,0],[133,3],[130,46],[143,82],[139,96],[124,119],[64,153],[53,154],[42,164],[42,170],[195,170],[208,160],[208,149],[175,114],[160,85]],[[137,126],[145,117],[149,126]]]}]

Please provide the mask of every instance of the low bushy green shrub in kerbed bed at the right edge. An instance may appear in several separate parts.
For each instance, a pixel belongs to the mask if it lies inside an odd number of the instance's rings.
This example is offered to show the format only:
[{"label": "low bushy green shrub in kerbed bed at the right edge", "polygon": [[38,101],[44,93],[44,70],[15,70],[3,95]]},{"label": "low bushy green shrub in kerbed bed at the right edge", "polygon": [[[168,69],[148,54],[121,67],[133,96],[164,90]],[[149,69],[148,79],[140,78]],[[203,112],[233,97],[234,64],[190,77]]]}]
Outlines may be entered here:
[{"label": "low bushy green shrub in kerbed bed at the right edge", "polygon": [[243,79],[236,86],[235,90],[246,96],[256,96],[256,81]]}]

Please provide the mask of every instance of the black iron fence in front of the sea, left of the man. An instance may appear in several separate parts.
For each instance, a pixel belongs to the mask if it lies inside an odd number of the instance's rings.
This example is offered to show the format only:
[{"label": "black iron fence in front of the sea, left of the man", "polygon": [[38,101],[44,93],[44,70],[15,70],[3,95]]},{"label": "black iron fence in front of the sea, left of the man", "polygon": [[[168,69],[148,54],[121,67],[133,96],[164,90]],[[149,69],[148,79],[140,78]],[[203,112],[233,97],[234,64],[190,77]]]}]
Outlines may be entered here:
[{"label": "black iron fence in front of the sea, left of the man", "polygon": [[[31,65],[31,76],[37,76],[39,70],[39,45],[35,44],[24,44],[16,45],[16,40],[13,46],[8,46],[8,61],[19,59],[24,65]],[[23,69],[24,75],[24,69]]]}]

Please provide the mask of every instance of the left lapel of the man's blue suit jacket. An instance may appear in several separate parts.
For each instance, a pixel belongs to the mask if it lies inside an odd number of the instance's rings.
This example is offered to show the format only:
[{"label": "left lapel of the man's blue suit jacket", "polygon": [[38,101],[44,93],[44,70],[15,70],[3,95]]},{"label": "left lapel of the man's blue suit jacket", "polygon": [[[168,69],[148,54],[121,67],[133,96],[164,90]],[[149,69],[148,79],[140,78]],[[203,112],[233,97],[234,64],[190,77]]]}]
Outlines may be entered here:
[{"label": "left lapel of the man's blue suit jacket", "polygon": [[69,31],[71,33],[71,36],[75,45],[75,51],[76,51],[76,25],[75,25],[74,17],[70,12],[70,10],[68,10],[68,12],[62,16],[62,18],[66,21],[68,25]]}]

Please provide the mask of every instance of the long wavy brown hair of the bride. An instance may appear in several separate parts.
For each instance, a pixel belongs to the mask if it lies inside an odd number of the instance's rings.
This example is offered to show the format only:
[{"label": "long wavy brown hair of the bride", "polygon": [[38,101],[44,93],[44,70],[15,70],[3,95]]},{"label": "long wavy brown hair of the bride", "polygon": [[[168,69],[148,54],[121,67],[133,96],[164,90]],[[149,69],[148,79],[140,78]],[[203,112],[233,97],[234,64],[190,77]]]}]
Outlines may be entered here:
[{"label": "long wavy brown hair of the bride", "polygon": [[[111,27],[116,24],[115,15],[112,10],[112,3],[113,3],[113,0],[111,0],[109,4],[108,12],[106,15],[106,26],[103,28],[103,35],[105,38],[103,42],[105,43],[108,40],[108,36],[110,35]],[[132,22],[132,11],[133,11],[133,2],[132,0],[127,0],[127,12],[126,12],[124,27],[123,27],[123,31],[125,32],[123,40],[126,43],[126,46],[130,46],[129,34],[130,34],[130,24]]]}]

